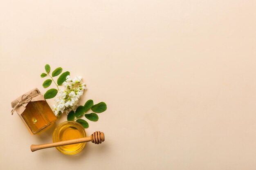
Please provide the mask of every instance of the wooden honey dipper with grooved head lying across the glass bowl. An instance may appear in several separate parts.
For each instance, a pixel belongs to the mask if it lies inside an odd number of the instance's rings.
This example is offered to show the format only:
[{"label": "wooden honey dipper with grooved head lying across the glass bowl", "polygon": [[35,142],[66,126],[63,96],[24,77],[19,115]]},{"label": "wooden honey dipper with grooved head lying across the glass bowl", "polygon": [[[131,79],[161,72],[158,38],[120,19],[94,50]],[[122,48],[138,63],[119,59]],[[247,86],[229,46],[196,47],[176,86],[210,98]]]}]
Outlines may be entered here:
[{"label": "wooden honey dipper with grooved head lying across the glass bowl", "polygon": [[101,142],[105,141],[104,133],[100,131],[96,131],[90,137],[82,137],[78,139],[59,141],[59,142],[54,142],[49,144],[31,145],[30,149],[32,152],[34,152],[40,149],[71,145],[71,144],[79,144],[79,143],[88,142],[88,141],[92,141],[92,143],[94,144],[101,144]]}]

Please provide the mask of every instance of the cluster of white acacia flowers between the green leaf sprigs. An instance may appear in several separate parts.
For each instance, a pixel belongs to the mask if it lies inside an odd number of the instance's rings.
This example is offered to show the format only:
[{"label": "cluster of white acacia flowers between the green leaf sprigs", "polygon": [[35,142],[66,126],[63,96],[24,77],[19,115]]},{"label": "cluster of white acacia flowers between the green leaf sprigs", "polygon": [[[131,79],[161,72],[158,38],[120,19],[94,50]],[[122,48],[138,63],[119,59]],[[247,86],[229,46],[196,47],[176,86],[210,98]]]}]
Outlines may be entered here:
[{"label": "cluster of white acacia flowers between the green leaf sprigs", "polygon": [[66,81],[63,82],[64,89],[58,90],[57,98],[54,100],[55,104],[52,106],[56,116],[61,115],[64,111],[68,114],[71,110],[76,109],[80,96],[86,90],[85,83],[81,79],[81,76],[71,79],[70,75],[67,75]]}]

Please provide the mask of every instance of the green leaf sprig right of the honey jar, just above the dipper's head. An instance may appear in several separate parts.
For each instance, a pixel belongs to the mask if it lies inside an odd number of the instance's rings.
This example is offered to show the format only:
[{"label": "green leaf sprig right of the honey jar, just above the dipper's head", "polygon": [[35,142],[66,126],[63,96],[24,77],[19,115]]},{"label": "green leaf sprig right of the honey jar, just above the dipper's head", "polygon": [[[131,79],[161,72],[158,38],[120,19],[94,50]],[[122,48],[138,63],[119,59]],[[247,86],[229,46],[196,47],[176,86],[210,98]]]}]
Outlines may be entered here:
[{"label": "green leaf sprig right of the honey jar, just above the dipper's head", "polygon": [[[89,110],[92,110],[95,113],[86,114],[86,112],[88,112]],[[107,110],[106,103],[100,102],[98,104],[93,104],[93,100],[90,99],[84,104],[84,106],[78,106],[75,112],[73,110],[70,111],[70,113],[67,115],[67,120],[68,121],[76,120],[76,122],[80,123],[84,128],[88,128],[89,127],[88,122],[85,121],[84,119],[79,119],[79,118],[81,118],[84,115],[85,118],[87,118],[90,121],[98,121],[99,116],[96,113],[102,113],[105,110]]]}]

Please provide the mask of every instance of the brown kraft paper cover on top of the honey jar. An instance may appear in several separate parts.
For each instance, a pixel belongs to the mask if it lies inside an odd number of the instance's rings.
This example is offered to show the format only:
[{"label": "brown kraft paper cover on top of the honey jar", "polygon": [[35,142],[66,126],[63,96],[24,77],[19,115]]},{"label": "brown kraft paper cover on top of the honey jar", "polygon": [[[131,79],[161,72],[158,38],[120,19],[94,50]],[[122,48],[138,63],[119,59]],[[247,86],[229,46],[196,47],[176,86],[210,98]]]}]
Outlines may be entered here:
[{"label": "brown kraft paper cover on top of the honey jar", "polygon": [[[43,97],[43,95],[40,95],[40,91],[37,88],[34,88],[31,91],[28,91],[27,93],[24,93],[23,95],[21,95],[20,97],[18,97],[17,99],[13,100],[11,102],[11,107],[14,108],[20,101],[22,101],[22,96],[23,96],[23,100],[27,100],[29,98],[32,97],[31,102],[35,102],[35,101],[40,101],[40,100],[45,100],[45,98]],[[31,97],[30,97],[31,96]],[[28,102],[29,103],[29,102]],[[16,107],[16,112],[21,115],[24,110],[26,109],[26,106],[28,103],[24,103],[18,107]]]}]

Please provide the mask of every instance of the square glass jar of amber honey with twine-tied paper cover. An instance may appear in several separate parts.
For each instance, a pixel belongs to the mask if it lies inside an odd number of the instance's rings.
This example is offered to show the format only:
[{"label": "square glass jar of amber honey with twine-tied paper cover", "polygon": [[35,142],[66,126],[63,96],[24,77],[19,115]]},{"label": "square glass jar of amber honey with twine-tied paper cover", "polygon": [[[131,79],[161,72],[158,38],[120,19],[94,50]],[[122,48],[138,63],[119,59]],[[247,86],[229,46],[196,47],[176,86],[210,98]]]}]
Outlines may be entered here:
[{"label": "square glass jar of amber honey with twine-tied paper cover", "polygon": [[36,134],[54,124],[57,117],[52,112],[43,95],[35,88],[11,102],[14,110],[20,116],[31,134]]}]

